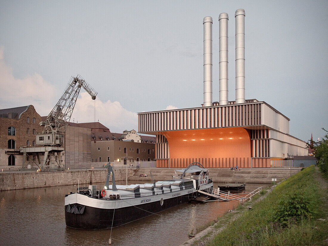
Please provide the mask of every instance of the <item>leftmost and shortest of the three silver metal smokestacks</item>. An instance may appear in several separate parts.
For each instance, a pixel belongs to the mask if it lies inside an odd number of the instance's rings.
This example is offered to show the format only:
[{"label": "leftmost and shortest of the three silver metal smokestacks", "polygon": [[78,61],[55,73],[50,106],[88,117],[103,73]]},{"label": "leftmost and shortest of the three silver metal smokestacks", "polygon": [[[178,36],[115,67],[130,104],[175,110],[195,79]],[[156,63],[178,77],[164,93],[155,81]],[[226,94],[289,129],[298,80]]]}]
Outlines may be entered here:
[{"label": "leftmost and shortest of the three silver metal smokestacks", "polygon": [[203,20],[204,26],[204,107],[212,106],[212,17]]}]

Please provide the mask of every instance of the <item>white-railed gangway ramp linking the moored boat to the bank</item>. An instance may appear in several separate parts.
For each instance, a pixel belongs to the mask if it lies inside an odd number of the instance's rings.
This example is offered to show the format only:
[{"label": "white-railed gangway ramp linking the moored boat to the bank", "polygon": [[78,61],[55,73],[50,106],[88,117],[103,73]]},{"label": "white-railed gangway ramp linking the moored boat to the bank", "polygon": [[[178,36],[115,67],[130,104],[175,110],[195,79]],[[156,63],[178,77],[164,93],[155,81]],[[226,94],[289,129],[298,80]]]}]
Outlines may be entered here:
[{"label": "white-railed gangway ramp linking the moored boat to the bank", "polygon": [[207,187],[206,185],[199,185],[197,190],[198,193],[216,198],[217,199],[216,201],[239,200],[240,202],[245,202],[248,199],[252,199],[252,196],[260,193],[261,191],[262,191],[262,187],[258,187],[256,190],[250,193],[231,194],[231,193],[220,191],[218,189],[214,189],[213,187]]}]

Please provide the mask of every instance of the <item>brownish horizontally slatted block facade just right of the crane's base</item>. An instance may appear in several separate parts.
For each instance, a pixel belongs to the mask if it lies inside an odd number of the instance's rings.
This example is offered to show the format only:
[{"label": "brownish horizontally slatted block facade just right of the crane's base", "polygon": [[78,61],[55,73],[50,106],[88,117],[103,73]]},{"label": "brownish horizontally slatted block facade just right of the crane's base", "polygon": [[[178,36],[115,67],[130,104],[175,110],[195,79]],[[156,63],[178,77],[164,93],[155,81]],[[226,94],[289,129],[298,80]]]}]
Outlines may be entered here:
[{"label": "brownish horizontally slatted block facade just right of the crane's base", "polygon": [[68,126],[65,133],[65,167],[91,168],[91,129]]}]

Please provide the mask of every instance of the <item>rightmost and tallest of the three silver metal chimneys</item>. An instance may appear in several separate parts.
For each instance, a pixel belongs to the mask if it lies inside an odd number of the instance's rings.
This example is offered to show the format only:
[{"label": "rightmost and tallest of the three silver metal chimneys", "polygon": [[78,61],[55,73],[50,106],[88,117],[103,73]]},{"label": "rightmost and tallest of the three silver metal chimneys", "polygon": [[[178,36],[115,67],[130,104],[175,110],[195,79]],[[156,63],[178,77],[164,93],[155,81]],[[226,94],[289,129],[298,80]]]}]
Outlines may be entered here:
[{"label": "rightmost and tallest of the three silver metal chimneys", "polygon": [[236,103],[245,103],[245,10],[239,9],[236,18]]}]

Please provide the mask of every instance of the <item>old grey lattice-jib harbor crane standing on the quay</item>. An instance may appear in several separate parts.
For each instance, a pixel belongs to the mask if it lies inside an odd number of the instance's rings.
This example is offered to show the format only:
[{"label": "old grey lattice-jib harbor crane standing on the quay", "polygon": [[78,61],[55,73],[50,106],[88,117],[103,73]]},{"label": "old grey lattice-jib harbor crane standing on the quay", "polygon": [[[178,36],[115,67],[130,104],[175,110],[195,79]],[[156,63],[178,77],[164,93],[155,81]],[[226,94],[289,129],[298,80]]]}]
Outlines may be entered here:
[{"label": "old grey lattice-jib harbor crane standing on the quay", "polygon": [[[47,119],[40,122],[40,126],[44,128],[42,133],[35,134],[36,146],[20,148],[20,151],[23,152],[22,169],[26,169],[26,156],[32,154],[37,156],[37,161],[32,161],[39,167],[40,171],[50,169],[51,156],[54,156],[54,160],[58,165],[57,169],[64,169],[60,153],[64,151],[66,126],[70,122],[81,87],[89,93],[92,100],[96,99],[98,93],[79,74],[76,77],[72,76],[59,101],[48,114]],[[40,155],[42,154],[44,154],[44,157],[40,161]]]}]

